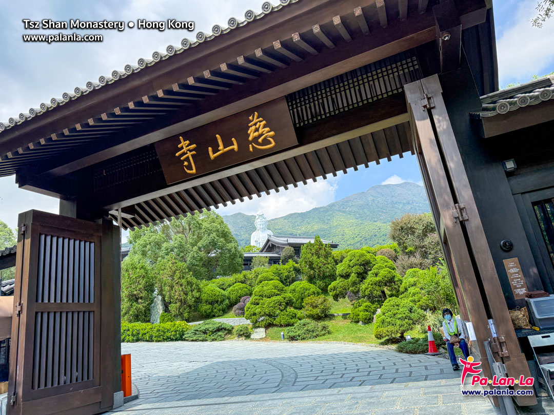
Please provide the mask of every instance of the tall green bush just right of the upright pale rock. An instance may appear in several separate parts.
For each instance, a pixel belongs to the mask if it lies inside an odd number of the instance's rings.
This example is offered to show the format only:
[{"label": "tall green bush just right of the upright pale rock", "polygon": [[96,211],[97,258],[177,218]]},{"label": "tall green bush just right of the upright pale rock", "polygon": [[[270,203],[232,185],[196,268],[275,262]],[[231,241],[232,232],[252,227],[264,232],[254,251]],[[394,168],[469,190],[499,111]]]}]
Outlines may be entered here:
[{"label": "tall green bush just right of the upright pale rock", "polygon": [[201,293],[200,282],[187,264],[170,254],[156,265],[158,293],[167,310],[179,320],[188,320],[196,310]]}]

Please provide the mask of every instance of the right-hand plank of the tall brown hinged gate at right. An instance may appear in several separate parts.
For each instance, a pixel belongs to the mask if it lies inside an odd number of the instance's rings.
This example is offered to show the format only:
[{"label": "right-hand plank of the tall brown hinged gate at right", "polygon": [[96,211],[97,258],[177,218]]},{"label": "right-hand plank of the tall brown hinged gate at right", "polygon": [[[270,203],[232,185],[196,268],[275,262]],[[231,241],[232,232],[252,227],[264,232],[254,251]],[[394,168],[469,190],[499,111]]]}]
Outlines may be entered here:
[{"label": "right-hand plank of the tall brown hinged gate at right", "polygon": [[[525,355],[521,353],[504,295],[499,295],[502,293],[502,287],[496,273],[493,256],[491,255],[479,211],[475,204],[473,191],[471,190],[461,159],[454,131],[450,124],[439,77],[437,75],[429,76],[423,79],[421,83],[424,94],[430,96],[433,100],[430,112],[433,116],[438,141],[443,150],[444,162],[450,177],[455,178],[455,180],[452,180],[452,186],[456,200],[458,200],[458,203],[465,205],[465,212],[469,219],[464,221],[464,226],[468,232],[470,248],[473,251],[475,262],[479,269],[486,300],[493,315],[497,333],[499,336],[504,336],[505,339],[508,356],[505,356],[503,360],[506,370],[510,376],[516,378],[520,375],[531,376]],[[517,385],[515,388],[528,389],[529,387],[524,388]],[[518,396],[516,401],[519,404],[529,405],[535,404],[536,398],[535,396]]]}]

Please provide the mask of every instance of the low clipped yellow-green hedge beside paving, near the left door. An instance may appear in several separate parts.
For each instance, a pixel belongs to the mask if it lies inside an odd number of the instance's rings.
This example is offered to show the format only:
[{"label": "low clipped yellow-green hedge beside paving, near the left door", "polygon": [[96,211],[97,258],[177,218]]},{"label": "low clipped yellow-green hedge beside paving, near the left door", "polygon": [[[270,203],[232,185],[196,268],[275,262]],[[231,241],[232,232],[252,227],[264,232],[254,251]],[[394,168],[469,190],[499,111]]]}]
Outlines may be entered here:
[{"label": "low clipped yellow-green hedge beside paving, near the left door", "polygon": [[134,343],[135,341],[181,341],[184,334],[191,329],[184,321],[172,323],[126,323],[121,322],[121,341]]}]

